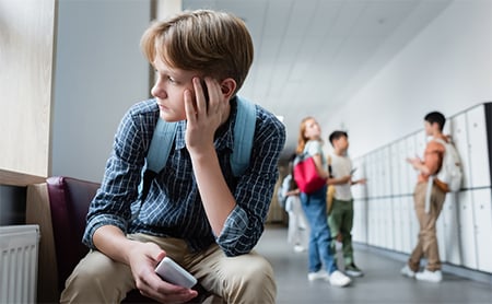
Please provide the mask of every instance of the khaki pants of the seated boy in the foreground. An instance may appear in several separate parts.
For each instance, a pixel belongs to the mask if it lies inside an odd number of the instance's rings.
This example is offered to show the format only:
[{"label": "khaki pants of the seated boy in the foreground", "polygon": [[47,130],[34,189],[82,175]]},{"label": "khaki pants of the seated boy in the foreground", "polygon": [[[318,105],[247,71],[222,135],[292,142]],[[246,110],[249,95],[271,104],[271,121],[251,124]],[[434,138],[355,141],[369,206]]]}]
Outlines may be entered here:
[{"label": "khaki pants of the seated boy in the foreground", "polygon": [[[157,244],[166,250],[167,256],[194,274],[207,291],[227,303],[276,301],[273,269],[263,257],[254,252],[226,257],[216,244],[207,250],[190,253],[186,243],[178,238],[144,234],[128,237]],[[119,303],[134,288],[134,280],[127,265],[116,262],[97,250],[91,250],[67,279],[60,302]]]}]

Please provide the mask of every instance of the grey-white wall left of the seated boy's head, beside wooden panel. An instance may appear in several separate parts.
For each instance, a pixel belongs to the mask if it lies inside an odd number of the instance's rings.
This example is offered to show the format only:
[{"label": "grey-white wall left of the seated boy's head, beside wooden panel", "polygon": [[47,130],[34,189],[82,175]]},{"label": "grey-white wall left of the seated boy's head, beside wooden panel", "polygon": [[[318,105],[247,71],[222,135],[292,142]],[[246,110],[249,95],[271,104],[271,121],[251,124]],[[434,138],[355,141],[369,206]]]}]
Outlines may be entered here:
[{"label": "grey-white wall left of the seated boy's head, beside wooden panel", "polygon": [[150,1],[58,1],[52,172],[99,182],[116,128],[150,96],[140,37]]}]

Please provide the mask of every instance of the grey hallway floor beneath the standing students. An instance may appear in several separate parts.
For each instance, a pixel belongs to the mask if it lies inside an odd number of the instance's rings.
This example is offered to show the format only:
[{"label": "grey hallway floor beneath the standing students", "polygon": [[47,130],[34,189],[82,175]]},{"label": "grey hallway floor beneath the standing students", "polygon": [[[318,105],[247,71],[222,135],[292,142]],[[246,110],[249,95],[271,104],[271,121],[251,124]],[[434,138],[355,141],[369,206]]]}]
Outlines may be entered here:
[{"label": "grey hallway floor beneath the standing students", "polygon": [[441,283],[420,282],[400,274],[403,261],[355,245],[355,262],[364,271],[348,288],[307,280],[307,253],[294,253],[286,227],[268,226],[257,245],[273,266],[277,303],[492,303],[492,284],[443,272]]}]

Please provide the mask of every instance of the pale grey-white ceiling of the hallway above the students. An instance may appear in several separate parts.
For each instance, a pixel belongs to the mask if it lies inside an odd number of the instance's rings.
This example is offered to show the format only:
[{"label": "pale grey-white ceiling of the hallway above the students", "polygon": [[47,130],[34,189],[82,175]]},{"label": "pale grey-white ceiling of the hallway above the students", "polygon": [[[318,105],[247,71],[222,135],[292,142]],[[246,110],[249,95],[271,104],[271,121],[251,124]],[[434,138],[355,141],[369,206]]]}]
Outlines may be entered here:
[{"label": "pale grey-white ceiling of the hallway above the students", "polygon": [[301,119],[318,121],[356,93],[450,0],[183,0],[245,20],[255,60],[239,91],[283,116],[295,150]]}]

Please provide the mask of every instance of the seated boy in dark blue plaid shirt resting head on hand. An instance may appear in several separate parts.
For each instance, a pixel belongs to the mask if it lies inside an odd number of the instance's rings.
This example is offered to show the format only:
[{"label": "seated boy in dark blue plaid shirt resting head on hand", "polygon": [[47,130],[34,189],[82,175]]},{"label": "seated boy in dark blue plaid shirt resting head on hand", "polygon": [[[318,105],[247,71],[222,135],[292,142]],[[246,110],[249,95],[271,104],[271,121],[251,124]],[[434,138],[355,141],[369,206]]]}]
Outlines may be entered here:
[{"label": "seated boy in dark blue plaid shirt resting head on hand", "polygon": [[[83,242],[92,250],[67,280],[61,302],[115,303],[134,288],[159,302],[190,301],[197,291],[154,272],[169,256],[229,303],[274,303],[272,268],[251,249],[263,231],[285,130],[255,106],[249,166],[233,175],[236,93],[253,61],[244,22],[222,12],[184,12],[151,25],[141,46],[157,74],[155,98],[122,118],[87,214]],[[178,121],[176,136],[137,212],[157,119]]]}]

